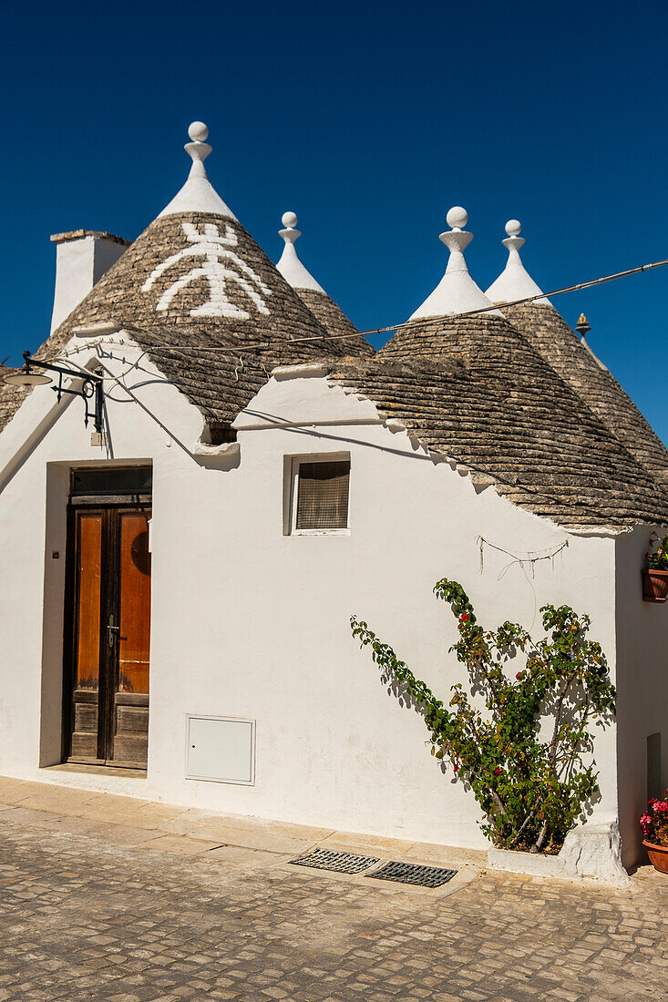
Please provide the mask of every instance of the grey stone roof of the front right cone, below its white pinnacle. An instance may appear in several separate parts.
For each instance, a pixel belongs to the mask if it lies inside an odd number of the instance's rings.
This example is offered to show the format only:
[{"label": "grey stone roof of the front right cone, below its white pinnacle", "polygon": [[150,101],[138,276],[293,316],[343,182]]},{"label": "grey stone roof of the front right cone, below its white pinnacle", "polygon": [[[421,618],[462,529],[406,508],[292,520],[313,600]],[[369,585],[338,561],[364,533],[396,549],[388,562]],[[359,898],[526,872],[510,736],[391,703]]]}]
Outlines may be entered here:
[{"label": "grey stone roof of the front right cone, below its white pinnacle", "polygon": [[370,363],[332,378],[561,525],[668,522],[647,469],[505,316],[413,318]]}]

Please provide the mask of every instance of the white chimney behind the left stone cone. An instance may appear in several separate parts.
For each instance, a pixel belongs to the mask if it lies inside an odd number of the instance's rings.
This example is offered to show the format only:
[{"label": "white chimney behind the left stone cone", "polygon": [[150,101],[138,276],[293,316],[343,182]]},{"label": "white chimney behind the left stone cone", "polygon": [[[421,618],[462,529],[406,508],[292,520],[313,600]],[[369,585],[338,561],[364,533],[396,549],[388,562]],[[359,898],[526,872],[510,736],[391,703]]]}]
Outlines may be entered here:
[{"label": "white chimney behind the left stone cone", "polygon": [[56,288],[53,298],[51,334],[60,327],[105,272],[120,258],[129,240],[95,229],[73,229],[54,233]]}]

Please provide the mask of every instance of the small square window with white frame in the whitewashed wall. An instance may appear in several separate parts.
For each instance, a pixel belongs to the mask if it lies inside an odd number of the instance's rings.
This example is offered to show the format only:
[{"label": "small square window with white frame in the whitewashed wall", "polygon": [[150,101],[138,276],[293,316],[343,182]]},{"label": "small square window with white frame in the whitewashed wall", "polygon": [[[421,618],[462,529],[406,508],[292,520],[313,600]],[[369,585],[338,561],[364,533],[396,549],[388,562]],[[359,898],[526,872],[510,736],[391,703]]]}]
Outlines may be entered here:
[{"label": "small square window with white frame in the whitewashed wall", "polygon": [[293,532],[348,529],[350,460],[293,461]]}]

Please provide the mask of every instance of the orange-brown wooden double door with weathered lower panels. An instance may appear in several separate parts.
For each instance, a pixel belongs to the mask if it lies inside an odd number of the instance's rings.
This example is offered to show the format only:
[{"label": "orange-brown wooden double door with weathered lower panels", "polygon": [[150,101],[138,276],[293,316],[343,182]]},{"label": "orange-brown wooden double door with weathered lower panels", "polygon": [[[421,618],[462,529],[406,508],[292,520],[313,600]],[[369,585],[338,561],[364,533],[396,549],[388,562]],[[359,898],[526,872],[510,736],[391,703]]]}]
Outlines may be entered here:
[{"label": "orange-brown wooden double door with weathered lower panels", "polygon": [[70,508],[64,758],[145,769],[150,553],[147,504]]}]

